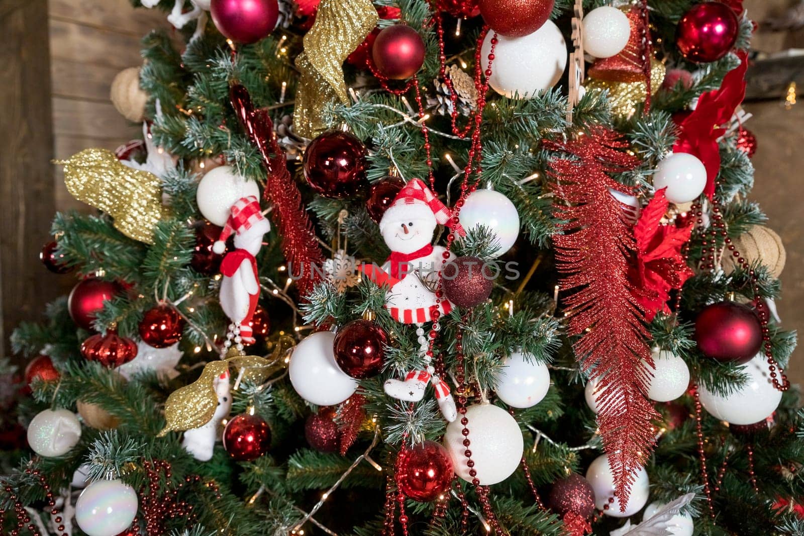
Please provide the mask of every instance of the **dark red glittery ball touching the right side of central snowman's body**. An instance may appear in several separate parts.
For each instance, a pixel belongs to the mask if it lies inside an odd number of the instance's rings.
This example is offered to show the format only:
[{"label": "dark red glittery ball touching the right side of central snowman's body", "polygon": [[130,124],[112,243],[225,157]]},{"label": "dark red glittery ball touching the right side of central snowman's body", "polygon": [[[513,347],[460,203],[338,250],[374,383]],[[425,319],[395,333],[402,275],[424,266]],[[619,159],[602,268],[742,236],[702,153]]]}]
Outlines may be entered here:
[{"label": "dark red glittery ball touching the right side of central snowman's body", "polygon": [[485,302],[494,287],[497,270],[479,257],[458,257],[441,270],[444,295],[458,307],[471,308]]}]

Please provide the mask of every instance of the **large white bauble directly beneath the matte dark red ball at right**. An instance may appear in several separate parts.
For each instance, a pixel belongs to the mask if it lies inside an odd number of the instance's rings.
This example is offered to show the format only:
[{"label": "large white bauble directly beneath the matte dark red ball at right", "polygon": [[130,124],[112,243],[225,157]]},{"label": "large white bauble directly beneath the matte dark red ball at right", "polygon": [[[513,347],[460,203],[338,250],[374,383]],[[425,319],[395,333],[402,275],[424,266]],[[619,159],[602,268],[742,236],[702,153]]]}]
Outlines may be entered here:
[{"label": "large white bauble directly beneath the matte dark red ball at right", "polygon": [[732,424],[753,424],[769,417],[781,402],[781,391],[773,387],[769,376],[768,362],[762,353],[741,365],[749,377],[748,383],[728,396],[712,393],[701,385],[701,405],[713,417]]}]

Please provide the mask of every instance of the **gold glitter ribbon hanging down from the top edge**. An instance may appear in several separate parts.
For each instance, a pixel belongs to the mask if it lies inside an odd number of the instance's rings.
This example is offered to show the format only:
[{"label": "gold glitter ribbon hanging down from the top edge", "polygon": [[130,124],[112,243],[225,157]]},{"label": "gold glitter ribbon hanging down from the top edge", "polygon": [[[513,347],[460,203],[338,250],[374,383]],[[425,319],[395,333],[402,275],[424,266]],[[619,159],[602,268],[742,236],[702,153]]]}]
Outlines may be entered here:
[{"label": "gold glitter ribbon hanging down from the top edge", "polygon": [[293,127],[305,138],[326,130],[324,107],[335,101],[348,104],[343,61],[363,43],[377,24],[370,0],[322,0],[315,23],[304,36],[304,52],[296,59],[301,72]]}]

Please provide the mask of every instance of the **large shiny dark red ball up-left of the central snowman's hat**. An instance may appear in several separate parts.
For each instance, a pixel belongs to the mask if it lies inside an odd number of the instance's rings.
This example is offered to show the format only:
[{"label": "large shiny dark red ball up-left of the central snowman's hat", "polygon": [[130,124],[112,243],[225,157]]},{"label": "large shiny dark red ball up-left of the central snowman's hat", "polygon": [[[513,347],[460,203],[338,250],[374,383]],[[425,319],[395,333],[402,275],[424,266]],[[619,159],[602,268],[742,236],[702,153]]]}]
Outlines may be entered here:
[{"label": "large shiny dark red ball up-left of the central snowman's hat", "polygon": [[355,196],[367,186],[366,147],[352,134],[327,130],[307,146],[304,176],[321,196]]}]

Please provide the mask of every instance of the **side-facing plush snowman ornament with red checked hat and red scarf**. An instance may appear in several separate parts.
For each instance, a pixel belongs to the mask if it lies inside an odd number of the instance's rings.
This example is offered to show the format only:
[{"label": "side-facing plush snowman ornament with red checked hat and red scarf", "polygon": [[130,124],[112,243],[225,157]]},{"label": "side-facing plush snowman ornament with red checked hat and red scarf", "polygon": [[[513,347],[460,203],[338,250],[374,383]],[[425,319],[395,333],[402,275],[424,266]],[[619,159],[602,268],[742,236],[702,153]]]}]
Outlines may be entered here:
[{"label": "side-facing plush snowman ornament with red checked hat and red scarf", "polygon": [[224,253],[226,240],[235,233],[235,250],[226,254],[220,263],[220,307],[232,320],[226,348],[235,340],[236,348],[254,344],[252,328],[248,325],[260,298],[260,279],[256,270],[256,254],[262,247],[262,237],[271,230],[271,224],[260,211],[260,202],[254,196],[241,197],[232,205],[219,240],[212,245],[216,254]]}]

